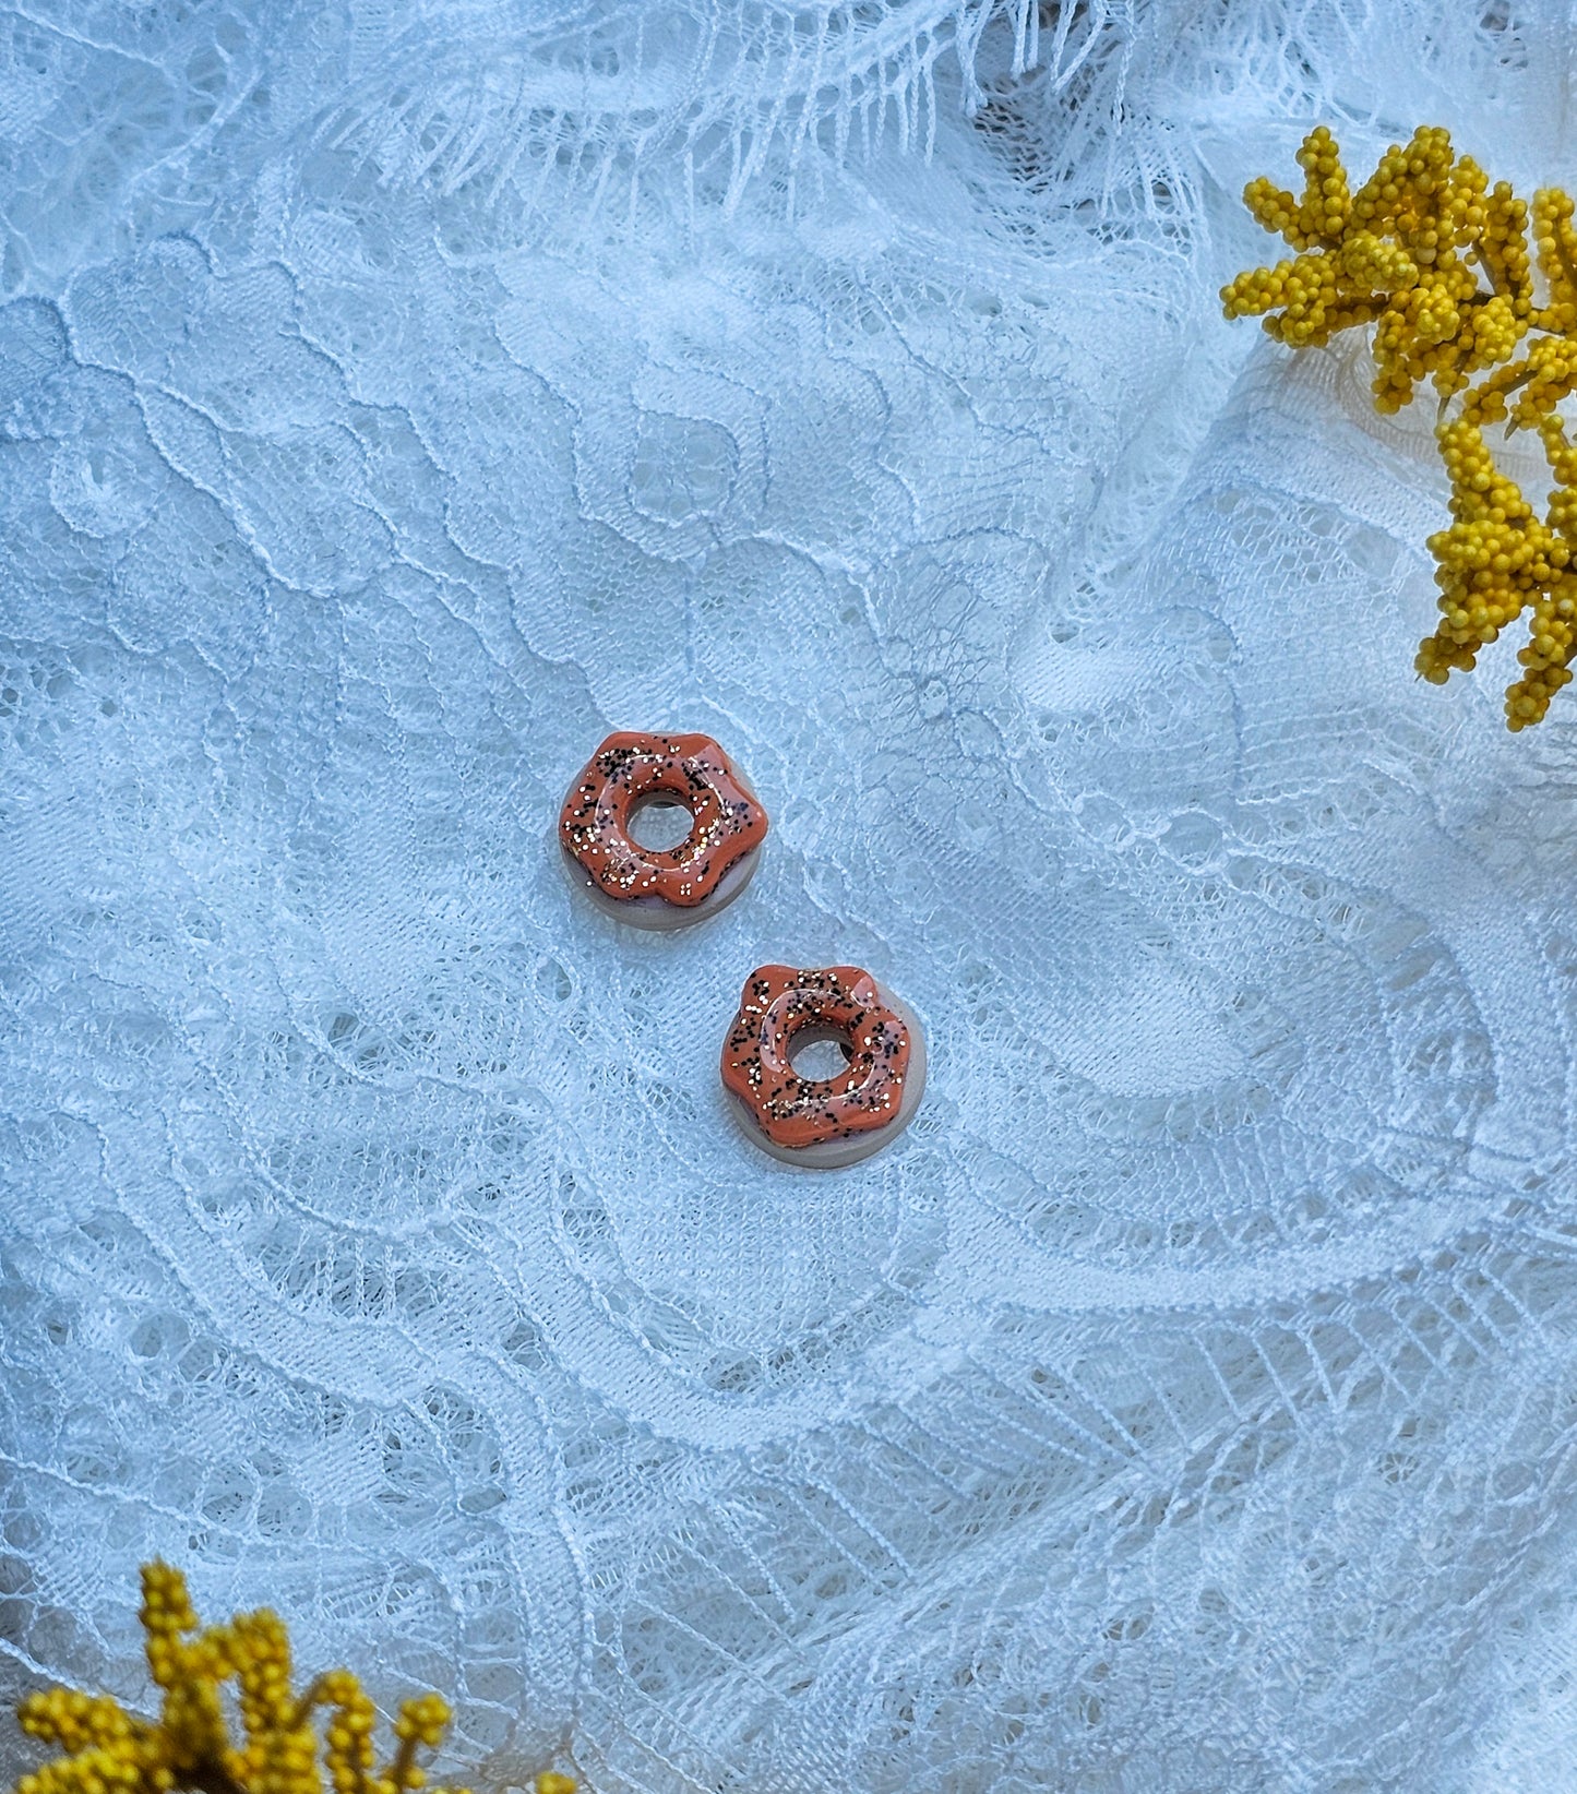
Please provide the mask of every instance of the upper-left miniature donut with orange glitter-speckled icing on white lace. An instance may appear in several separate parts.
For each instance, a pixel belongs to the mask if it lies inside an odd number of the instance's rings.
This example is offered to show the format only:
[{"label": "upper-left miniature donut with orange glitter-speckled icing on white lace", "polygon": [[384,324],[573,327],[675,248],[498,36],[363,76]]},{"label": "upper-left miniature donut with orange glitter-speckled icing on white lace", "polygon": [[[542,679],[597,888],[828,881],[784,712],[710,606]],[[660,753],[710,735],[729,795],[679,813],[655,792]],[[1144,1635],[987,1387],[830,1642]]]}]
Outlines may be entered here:
[{"label": "upper-left miniature donut with orange glitter-speckled icing on white lace", "polygon": [[[691,813],[678,847],[642,847],[648,807]],[[558,814],[567,867],[606,915],[637,927],[685,927],[730,904],[755,872],[766,811],[710,736],[619,734],[597,748]]]}]

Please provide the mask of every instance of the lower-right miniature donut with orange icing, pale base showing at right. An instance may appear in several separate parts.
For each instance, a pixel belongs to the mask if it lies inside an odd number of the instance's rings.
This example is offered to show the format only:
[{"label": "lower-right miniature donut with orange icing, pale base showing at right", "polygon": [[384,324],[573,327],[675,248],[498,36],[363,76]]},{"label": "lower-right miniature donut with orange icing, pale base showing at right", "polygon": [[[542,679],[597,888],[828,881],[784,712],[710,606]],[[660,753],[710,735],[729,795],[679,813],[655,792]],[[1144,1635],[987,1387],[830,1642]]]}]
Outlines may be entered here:
[{"label": "lower-right miniature donut with orange icing, pale base showing at right", "polygon": [[[840,1041],[847,1067],[802,1078],[791,1055]],[[777,1159],[829,1170],[886,1146],[926,1085],[926,1042],[913,1010],[858,965],[759,965],[745,980],[723,1042],[723,1087],[746,1132]]]}]

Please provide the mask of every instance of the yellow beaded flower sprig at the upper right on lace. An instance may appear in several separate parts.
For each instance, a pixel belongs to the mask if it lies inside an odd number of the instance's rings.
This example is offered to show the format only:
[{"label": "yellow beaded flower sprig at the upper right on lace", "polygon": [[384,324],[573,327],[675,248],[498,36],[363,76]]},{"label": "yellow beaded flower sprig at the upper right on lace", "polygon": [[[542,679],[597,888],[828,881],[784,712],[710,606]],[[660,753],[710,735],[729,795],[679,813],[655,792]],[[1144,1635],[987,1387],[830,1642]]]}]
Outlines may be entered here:
[{"label": "yellow beaded flower sprig at the upper right on lace", "polygon": [[[1505,692],[1507,728],[1525,728],[1570,684],[1577,657],[1577,450],[1557,414],[1577,391],[1572,199],[1545,188],[1530,210],[1430,126],[1407,147],[1392,144],[1356,194],[1324,126],[1297,160],[1301,197],[1261,178],[1243,188],[1243,203],[1299,253],[1222,287],[1225,314],[1263,318],[1294,348],[1372,323],[1381,413],[1410,404],[1421,380],[1433,382],[1451,524],[1428,542],[1441,623],[1416,666],[1442,685],[1530,612],[1523,675]],[[1494,466],[1487,423],[1539,432],[1554,483],[1543,518]]]}]

